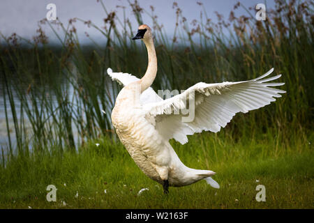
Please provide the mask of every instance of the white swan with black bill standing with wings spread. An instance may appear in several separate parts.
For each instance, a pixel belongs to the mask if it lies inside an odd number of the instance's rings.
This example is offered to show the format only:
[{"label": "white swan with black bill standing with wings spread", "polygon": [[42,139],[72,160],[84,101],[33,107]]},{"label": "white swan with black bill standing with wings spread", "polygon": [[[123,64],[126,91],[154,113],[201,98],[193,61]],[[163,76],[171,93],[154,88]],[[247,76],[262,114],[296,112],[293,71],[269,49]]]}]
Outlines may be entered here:
[{"label": "white swan with black bill standing with wings spread", "polygon": [[[112,124],[117,135],[138,167],[149,178],[168,187],[181,187],[205,179],[209,185],[219,188],[211,178],[211,170],[192,169],[181,162],[169,143],[175,139],[181,144],[188,142],[187,135],[195,132],[218,132],[225,127],[237,112],[248,112],[269,105],[285,93],[269,86],[284,83],[268,83],[281,75],[267,77],[269,70],[261,77],[244,82],[223,82],[206,84],[200,82],[181,94],[163,100],[150,87],[157,73],[157,58],[151,29],[146,24],[139,26],[133,40],[141,39],[147,47],[148,66],[142,79],[122,72],[107,74],[112,80],[123,84],[112,109]],[[188,103],[187,103],[188,101]],[[178,111],[192,106],[193,118],[184,121],[186,114]]]}]

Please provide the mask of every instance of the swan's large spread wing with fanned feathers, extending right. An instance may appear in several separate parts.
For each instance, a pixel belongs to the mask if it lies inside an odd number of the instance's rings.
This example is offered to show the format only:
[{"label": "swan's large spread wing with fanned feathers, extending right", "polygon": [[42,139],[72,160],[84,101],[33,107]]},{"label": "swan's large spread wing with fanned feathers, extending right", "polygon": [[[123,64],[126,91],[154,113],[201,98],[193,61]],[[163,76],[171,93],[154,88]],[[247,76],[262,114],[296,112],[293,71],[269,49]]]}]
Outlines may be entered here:
[{"label": "swan's large spread wing with fanned feathers, extending right", "polygon": [[[284,83],[268,83],[281,75],[264,79],[273,70],[245,82],[200,82],[172,98],[144,105],[143,109],[155,117],[156,130],[165,139],[173,138],[184,144],[188,134],[203,130],[218,132],[237,112],[246,113],[264,107],[281,97],[279,93],[285,91],[270,86]],[[186,109],[184,114],[182,109]]]}]

